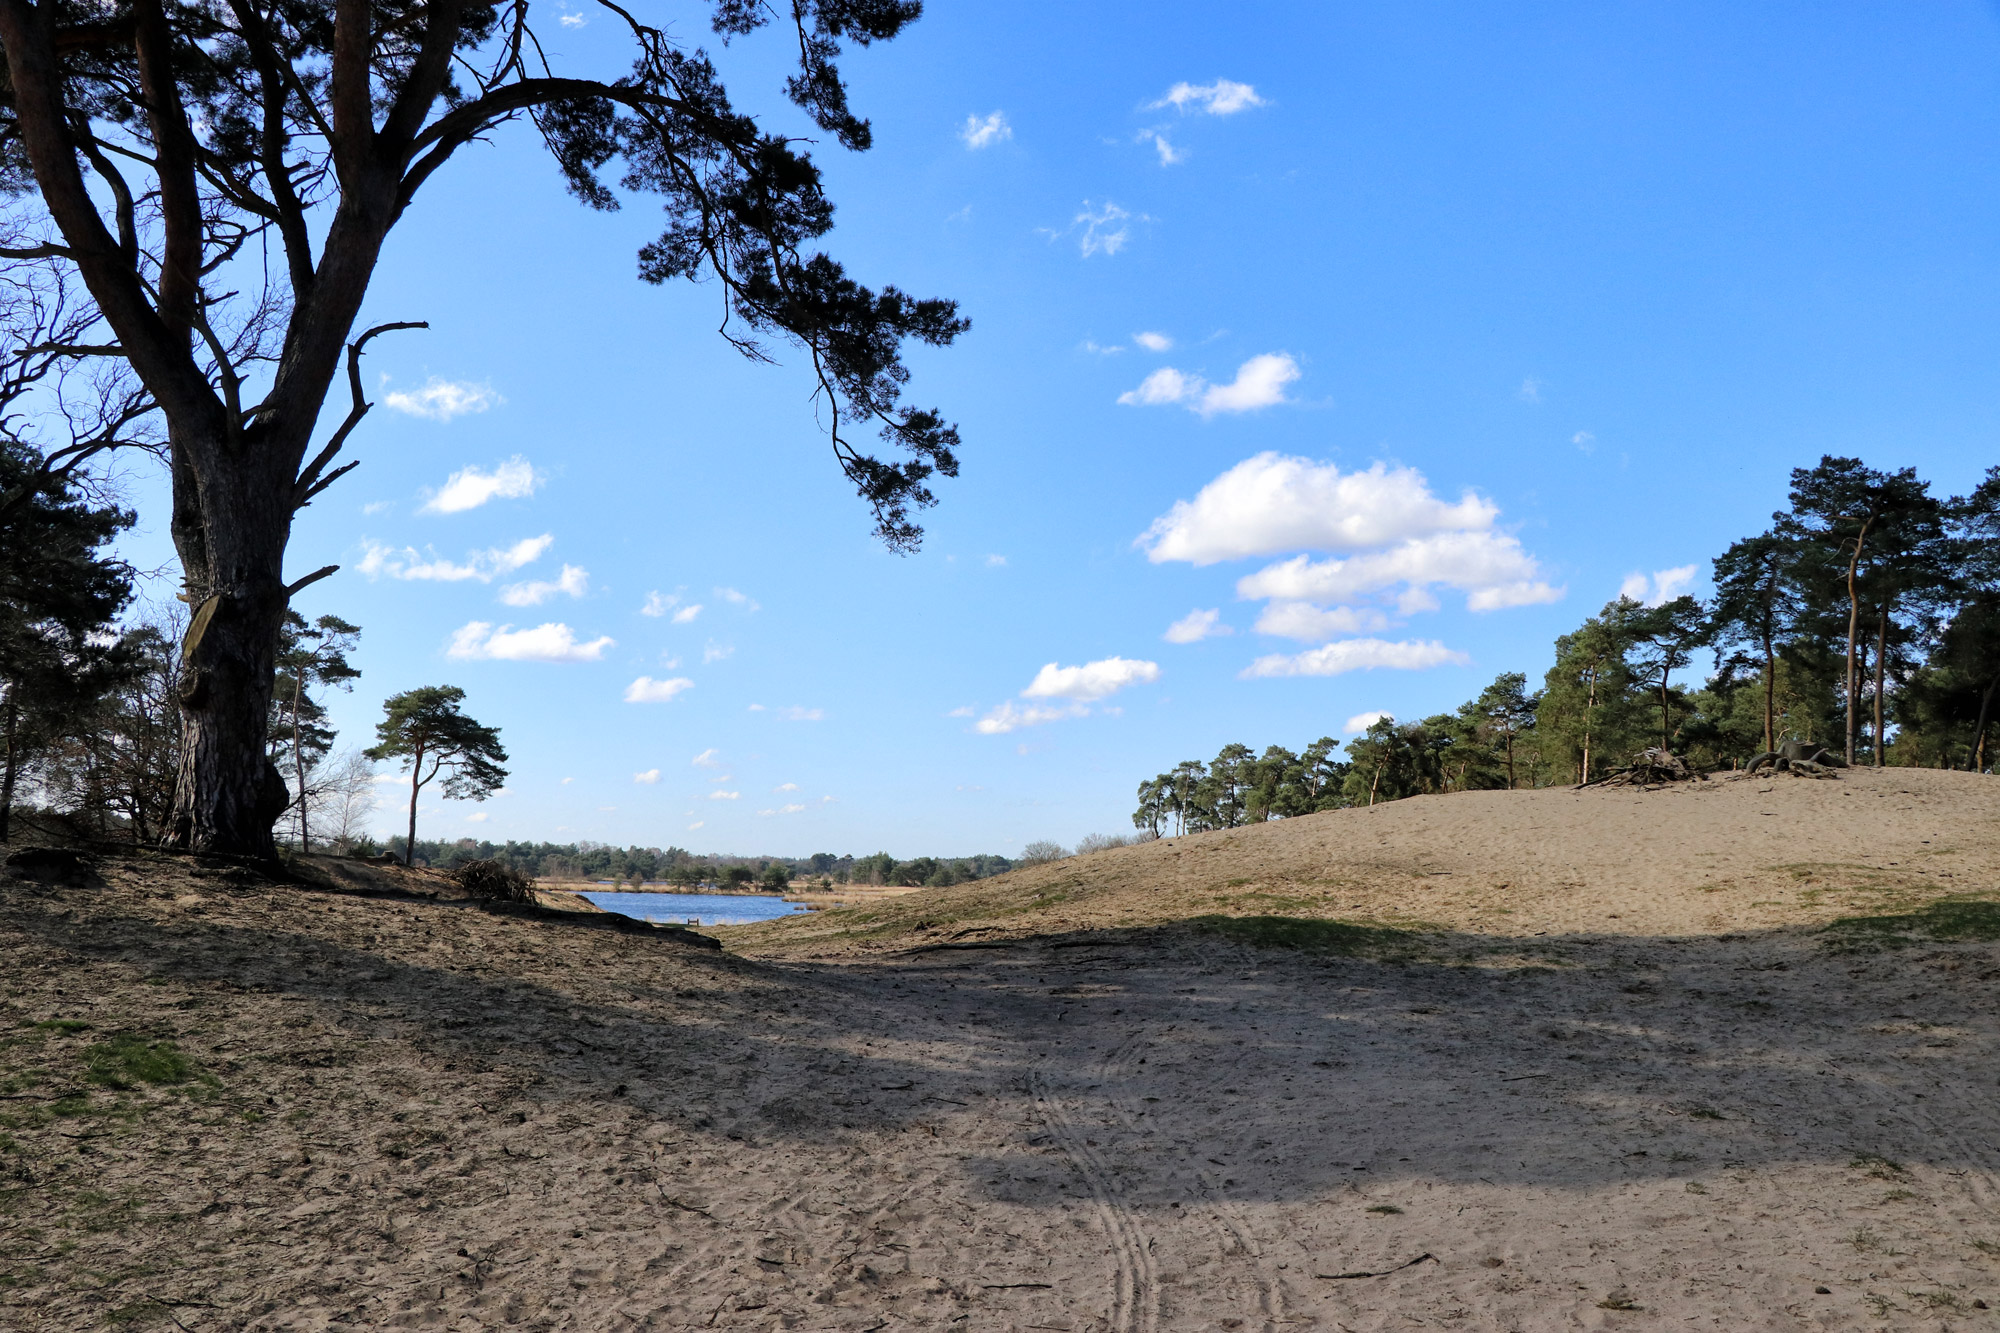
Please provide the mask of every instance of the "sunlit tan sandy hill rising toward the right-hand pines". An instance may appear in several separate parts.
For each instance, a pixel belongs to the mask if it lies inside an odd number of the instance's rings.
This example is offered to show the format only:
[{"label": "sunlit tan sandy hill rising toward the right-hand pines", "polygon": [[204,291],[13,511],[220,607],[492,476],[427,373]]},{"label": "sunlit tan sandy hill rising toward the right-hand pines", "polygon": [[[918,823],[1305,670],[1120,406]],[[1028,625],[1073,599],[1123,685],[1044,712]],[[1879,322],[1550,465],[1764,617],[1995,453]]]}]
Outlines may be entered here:
[{"label": "sunlit tan sandy hill rising toward the right-hand pines", "polygon": [[804,957],[1214,915],[1432,927],[1492,943],[1716,935],[1982,893],[1996,871],[2000,781],[1862,769],[1834,781],[1416,797],[726,935],[750,953]]}]

